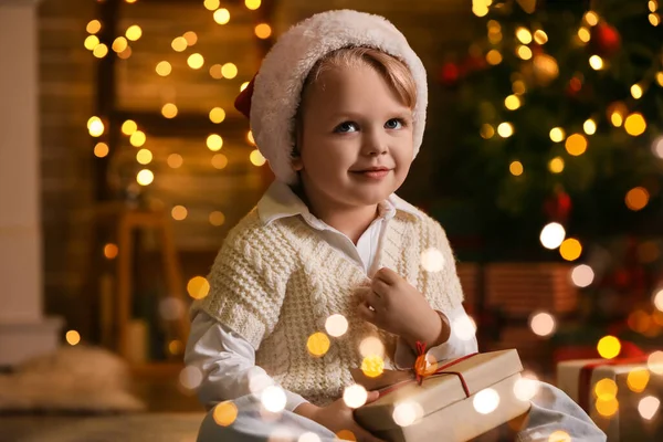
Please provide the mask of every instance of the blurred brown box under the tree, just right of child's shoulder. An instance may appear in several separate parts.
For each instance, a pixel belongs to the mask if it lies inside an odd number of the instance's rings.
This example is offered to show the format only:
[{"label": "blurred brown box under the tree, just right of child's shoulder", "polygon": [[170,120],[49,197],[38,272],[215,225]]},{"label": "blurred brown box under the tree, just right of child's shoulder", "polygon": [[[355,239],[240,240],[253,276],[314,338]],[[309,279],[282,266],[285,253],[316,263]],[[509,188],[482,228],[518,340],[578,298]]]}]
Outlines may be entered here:
[{"label": "blurred brown box under the tree, just right of child's shoulder", "polygon": [[509,317],[532,312],[573,312],[578,288],[569,277],[571,266],[558,263],[498,263],[486,267],[486,303]]}]

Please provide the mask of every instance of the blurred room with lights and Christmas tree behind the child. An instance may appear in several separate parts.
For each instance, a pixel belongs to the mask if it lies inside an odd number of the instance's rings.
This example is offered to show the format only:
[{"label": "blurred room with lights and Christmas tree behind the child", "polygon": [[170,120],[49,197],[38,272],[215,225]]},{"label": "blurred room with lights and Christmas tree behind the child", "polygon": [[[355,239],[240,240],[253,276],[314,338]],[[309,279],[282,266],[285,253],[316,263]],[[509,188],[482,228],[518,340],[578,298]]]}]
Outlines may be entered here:
[{"label": "blurred room with lights and Christmas tree behind the child", "polygon": [[568,359],[661,361],[656,0],[17,0],[0,365],[98,346],[157,383],[150,407],[196,407],[188,304],[272,180],[233,101],[284,30],[341,8],[388,18],[428,70],[399,194],[445,228],[480,349],[517,348],[550,381]]}]

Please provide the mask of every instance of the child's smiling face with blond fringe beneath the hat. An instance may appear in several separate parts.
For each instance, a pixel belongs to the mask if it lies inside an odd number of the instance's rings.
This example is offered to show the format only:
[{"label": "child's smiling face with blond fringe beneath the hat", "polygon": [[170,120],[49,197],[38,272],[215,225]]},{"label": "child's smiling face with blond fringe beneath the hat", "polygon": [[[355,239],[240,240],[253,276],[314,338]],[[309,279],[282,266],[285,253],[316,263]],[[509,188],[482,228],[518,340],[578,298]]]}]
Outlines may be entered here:
[{"label": "child's smiling face with blond fringe beneath the hat", "polygon": [[307,87],[293,167],[317,210],[371,206],[412,164],[412,110],[367,65],[324,71]]}]

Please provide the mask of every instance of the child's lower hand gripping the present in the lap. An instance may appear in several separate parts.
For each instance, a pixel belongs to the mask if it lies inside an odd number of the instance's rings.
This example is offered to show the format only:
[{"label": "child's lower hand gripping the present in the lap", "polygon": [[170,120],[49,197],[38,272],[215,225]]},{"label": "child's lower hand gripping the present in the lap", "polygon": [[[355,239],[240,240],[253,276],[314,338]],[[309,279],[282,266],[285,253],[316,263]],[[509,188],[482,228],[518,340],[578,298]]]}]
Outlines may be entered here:
[{"label": "child's lower hand gripping the present in the lap", "polygon": [[[366,403],[370,403],[377,399],[378,392],[369,391]],[[343,398],[332,402],[327,407],[315,407],[311,403],[303,403],[295,409],[295,413],[326,427],[334,434],[346,430],[351,431],[358,442],[385,442],[366,431],[355,421],[352,409],[346,406]]]}]

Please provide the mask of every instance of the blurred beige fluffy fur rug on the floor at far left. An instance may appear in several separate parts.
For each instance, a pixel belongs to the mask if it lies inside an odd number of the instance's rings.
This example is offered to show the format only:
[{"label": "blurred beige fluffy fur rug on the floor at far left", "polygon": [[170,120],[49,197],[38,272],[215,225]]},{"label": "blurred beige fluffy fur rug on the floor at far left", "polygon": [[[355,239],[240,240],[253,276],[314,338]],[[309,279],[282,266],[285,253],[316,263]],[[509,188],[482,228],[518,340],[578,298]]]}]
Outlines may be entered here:
[{"label": "blurred beige fluffy fur rug on the floor at far left", "polygon": [[130,392],[130,371],[116,355],[62,347],[0,375],[0,412],[130,412],[145,404]]}]

